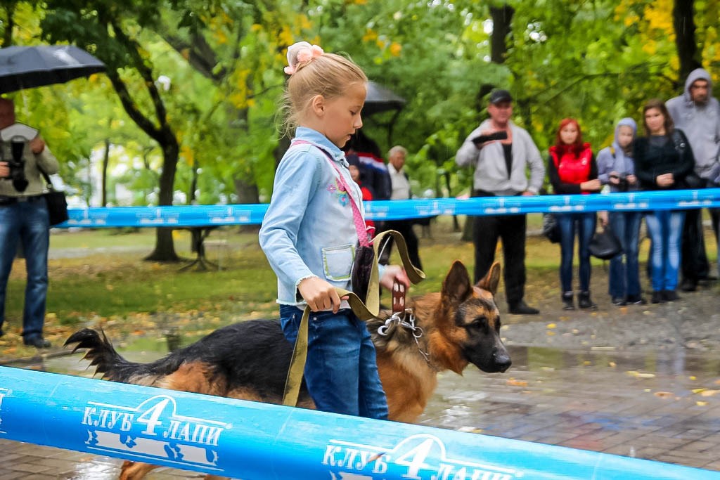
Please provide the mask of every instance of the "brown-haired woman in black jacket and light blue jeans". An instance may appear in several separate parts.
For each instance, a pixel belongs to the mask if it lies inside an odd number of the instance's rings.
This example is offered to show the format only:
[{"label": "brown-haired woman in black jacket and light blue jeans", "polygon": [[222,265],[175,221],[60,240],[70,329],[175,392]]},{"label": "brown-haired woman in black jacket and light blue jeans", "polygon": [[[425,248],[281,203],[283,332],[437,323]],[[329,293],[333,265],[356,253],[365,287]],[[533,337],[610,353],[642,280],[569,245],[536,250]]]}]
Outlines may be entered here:
[{"label": "brown-haired woman in black jacket and light blue jeans", "polygon": [[[675,129],[662,100],[649,100],[643,108],[646,137],[635,140],[635,174],[643,190],[672,190],[685,187],[695,159],[685,134]],[[654,210],[645,215],[652,239],[652,303],[674,302],[678,294],[680,240],[683,235],[681,210]]]}]

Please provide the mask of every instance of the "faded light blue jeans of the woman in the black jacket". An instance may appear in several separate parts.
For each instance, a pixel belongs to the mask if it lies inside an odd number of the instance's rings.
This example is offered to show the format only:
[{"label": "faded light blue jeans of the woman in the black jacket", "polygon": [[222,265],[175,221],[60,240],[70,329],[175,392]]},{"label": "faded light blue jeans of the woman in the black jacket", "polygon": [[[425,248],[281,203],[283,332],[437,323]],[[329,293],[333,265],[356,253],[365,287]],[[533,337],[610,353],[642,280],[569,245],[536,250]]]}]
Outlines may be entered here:
[{"label": "faded light blue jeans of the woman in the black jacket", "polygon": [[678,288],[684,219],[685,212],[679,210],[657,210],[645,216],[647,232],[652,240],[650,281],[653,291]]}]

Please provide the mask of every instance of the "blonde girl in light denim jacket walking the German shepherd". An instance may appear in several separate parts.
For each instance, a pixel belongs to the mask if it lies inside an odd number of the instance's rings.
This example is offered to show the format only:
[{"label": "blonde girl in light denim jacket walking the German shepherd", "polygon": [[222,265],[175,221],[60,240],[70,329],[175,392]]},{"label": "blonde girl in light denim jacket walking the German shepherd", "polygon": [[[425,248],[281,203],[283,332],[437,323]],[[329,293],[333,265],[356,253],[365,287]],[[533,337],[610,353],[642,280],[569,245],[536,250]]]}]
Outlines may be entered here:
[{"label": "blonde girl in light denim jacket walking the German shepherd", "polygon": [[[305,382],[318,409],[386,419],[369,332],[335,291],[351,289],[358,229],[364,231],[360,188],[341,148],[362,126],[367,78],[350,60],[307,42],[289,47],[287,58],[287,122],[297,130],[260,229],[278,277],[282,328],[294,343],[310,307]],[[384,268],[380,283],[391,289],[394,281],[409,284],[402,268]]]}]

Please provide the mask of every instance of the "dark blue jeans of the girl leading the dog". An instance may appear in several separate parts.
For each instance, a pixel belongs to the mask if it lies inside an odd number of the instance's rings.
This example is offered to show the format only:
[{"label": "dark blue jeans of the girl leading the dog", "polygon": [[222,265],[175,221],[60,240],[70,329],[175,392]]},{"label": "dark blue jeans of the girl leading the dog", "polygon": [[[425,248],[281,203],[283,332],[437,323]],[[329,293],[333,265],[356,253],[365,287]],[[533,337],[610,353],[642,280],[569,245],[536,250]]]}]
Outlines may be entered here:
[{"label": "dark blue jeans of the girl leading the dog", "polygon": [[[280,306],[285,338],[297,338],[302,310]],[[387,420],[387,399],[380,383],[375,345],[365,322],[350,309],[310,312],[305,383],[323,412]]]}]

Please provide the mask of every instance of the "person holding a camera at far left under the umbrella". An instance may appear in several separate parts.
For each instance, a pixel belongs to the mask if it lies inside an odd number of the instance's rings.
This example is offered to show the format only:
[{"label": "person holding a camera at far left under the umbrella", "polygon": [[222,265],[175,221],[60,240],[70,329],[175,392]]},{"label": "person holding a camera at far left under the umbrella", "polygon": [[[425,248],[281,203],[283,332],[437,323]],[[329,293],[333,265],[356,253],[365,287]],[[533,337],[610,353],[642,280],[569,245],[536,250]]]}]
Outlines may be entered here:
[{"label": "person holding a camera at far left under the umbrella", "polygon": [[[0,99],[0,131],[15,123],[11,100]],[[48,348],[42,337],[48,293],[48,207],[42,192],[48,175],[58,172],[58,160],[45,142],[13,137],[0,142],[0,336],[5,320],[7,281],[18,242],[22,242],[27,270],[22,336],[25,345]]]}]

